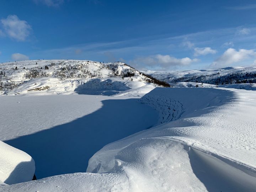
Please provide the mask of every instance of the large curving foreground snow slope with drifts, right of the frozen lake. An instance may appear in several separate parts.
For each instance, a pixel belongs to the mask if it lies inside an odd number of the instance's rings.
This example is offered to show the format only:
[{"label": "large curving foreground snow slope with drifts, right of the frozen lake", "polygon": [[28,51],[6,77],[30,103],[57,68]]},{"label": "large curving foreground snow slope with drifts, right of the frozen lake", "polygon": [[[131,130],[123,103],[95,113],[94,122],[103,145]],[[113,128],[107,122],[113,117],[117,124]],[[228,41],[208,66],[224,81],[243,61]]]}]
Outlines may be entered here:
[{"label": "large curving foreground snow slope with drifts, right of the frozen lake", "polygon": [[255,98],[220,87],[156,88],[139,102],[159,111],[158,126],[104,146],[86,173],[0,191],[254,191]]}]

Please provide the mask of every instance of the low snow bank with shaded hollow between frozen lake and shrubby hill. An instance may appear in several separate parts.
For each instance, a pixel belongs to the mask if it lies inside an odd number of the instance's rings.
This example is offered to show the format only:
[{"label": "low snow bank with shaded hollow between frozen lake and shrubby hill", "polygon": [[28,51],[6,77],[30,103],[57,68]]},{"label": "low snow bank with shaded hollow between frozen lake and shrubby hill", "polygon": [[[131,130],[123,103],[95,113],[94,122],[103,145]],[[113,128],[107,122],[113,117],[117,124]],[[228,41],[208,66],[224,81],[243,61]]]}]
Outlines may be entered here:
[{"label": "low snow bank with shaded hollow between frozen lake and shrubby hill", "polygon": [[25,81],[7,92],[7,95],[85,94],[142,97],[155,87],[150,83],[121,78],[60,80],[44,77]]}]

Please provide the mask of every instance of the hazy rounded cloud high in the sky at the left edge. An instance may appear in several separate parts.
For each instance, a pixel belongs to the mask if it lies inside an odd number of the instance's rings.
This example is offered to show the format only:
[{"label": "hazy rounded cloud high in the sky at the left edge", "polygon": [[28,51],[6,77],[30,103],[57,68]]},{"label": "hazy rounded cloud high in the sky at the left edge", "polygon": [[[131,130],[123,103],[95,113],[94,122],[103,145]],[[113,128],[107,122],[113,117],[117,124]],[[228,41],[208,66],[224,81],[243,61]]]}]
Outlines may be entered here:
[{"label": "hazy rounded cloud high in the sky at the left edge", "polygon": [[5,33],[18,41],[25,41],[31,31],[31,26],[27,21],[20,20],[16,15],[9,15],[1,19]]}]

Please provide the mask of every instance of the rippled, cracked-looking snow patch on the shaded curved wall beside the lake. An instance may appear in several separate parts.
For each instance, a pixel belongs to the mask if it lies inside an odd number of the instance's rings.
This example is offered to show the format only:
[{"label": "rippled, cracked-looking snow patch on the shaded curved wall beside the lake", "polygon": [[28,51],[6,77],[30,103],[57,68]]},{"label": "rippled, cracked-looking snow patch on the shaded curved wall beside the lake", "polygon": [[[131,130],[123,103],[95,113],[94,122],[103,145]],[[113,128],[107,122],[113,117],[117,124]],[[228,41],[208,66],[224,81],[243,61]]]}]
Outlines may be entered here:
[{"label": "rippled, cracked-looking snow patch on the shaded curved wall beside the lake", "polygon": [[177,120],[184,112],[182,103],[164,96],[151,96],[148,94],[142,97],[140,102],[153,107],[159,112],[158,124]]}]

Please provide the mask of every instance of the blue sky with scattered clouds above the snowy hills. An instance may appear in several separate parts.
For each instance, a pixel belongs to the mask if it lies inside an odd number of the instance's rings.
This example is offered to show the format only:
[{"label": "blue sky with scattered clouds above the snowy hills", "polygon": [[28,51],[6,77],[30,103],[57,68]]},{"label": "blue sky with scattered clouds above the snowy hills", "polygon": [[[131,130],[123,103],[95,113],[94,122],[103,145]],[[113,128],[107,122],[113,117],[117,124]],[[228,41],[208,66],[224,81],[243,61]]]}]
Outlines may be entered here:
[{"label": "blue sky with scattered clouds above the snowy hills", "polygon": [[0,62],[123,61],[140,70],[256,64],[256,1],[1,0]]}]

